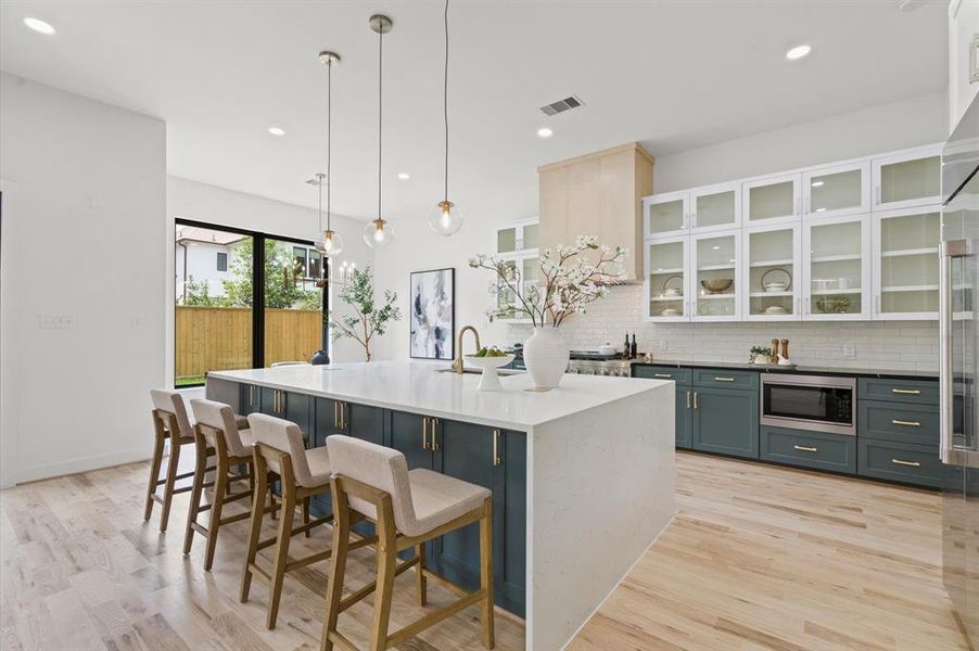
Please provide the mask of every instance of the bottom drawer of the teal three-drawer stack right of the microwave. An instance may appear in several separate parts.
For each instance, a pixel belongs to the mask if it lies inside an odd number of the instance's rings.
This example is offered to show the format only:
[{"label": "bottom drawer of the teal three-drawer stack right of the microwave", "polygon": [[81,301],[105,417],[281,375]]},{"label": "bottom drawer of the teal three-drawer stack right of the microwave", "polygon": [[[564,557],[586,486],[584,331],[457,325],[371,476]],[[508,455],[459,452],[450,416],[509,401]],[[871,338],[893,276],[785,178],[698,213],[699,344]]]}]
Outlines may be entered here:
[{"label": "bottom drawer of the teal three-drawer stack right of the microwave", "polygon": [[857,438],[857,472],[868,477],[941,486],[941,460],[938,446]]}]

